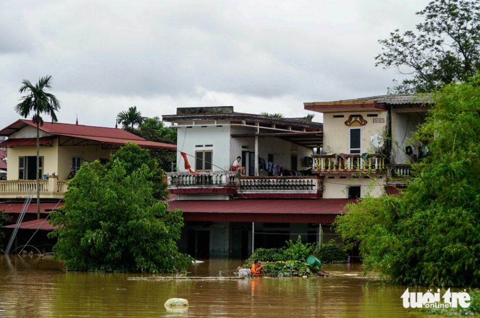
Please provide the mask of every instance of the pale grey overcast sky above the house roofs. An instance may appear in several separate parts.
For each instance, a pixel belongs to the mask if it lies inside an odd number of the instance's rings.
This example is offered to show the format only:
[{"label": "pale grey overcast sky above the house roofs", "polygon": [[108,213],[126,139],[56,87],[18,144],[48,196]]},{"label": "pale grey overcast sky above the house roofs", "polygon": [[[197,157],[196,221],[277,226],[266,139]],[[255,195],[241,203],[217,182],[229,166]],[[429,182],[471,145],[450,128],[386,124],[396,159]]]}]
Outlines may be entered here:
[{"label": "pale grey overcast sky above the house roofs", "polygon": [[60,122],[112,127],[130,106],[300,117],[303,102],[385,94],[399,75],[374,67],[378,40],[428,2],[0,0],[0,126],[20,118],[22,79],[46,75]]}]

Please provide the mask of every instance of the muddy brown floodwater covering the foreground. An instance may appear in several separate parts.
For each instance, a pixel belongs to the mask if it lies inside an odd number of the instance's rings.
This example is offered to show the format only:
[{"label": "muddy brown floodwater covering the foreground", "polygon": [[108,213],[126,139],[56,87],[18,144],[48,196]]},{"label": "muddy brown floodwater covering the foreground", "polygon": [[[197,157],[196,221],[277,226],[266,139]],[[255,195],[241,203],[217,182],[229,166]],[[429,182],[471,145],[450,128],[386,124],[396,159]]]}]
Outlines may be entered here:
[{"label": "muddy brown floodwater covering the foreground", "polygon": [[[190,276],[232,276],[241,261],[204,260]],[[62,271],[51,256],[0,256],[0,317],[418,317],[402,306],[406,287],[362,277],[360,264],[324,265],[338,277],[129,280],[150,274]],[[167,311],[169,298],[190,306]],[[431,317],[431,316],[429,316]]]}]

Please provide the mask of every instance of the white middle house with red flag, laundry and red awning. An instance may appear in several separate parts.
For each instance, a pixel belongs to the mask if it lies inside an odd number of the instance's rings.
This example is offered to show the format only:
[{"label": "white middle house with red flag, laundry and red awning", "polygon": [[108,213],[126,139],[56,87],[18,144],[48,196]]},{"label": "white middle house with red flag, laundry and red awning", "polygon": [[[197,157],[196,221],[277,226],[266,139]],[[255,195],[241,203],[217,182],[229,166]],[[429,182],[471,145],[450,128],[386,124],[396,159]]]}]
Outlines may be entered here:
[{"label": "white middle house with red flag, laundry and red awning", "polygon": [[[185,220],[180,250],[246,258],[298,235],[309,242],[334,237],[327,225],[349,200],[321,199],[323,177],[312,173],[321,123],[233,107],[179,108],[162,119],[178,129],[178,170],[167,176],[176,195],[169,209],[180,208]],[[230,171],[238,156],[246,176]],[[196,173],[185,169],[185,158]]]}]

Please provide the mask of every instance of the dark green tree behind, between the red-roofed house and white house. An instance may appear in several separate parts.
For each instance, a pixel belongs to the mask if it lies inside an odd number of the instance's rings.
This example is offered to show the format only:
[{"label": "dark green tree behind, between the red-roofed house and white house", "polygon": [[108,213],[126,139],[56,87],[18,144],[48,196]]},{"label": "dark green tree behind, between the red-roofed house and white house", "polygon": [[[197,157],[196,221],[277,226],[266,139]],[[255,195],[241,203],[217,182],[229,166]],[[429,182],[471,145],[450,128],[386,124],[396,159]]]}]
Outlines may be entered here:
[{"label": "dark green tree behind, between the red-roofed house and white house", "polygon": [[[158,117],[145,118],[139,128],[123,127],[123,130],[142,137],[148,141],[177,144],[177,129],[166,127]],[[164,171],[172,169],[172,162],[177,161],[177,151],[169,149],[150,150],[153,158],[158,161]]]}]

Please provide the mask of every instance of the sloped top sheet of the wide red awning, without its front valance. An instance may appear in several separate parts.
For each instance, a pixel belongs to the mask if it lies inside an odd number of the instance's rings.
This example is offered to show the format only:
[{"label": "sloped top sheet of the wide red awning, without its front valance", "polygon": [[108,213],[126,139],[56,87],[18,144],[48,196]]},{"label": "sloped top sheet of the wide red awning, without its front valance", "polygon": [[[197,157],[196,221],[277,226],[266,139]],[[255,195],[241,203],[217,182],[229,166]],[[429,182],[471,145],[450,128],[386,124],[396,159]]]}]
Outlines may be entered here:
[{"label": "sloped top sheet of the wide red awning, without its front valance", "polygon": [[229,200],[169,201],[168,211],[178,208],[198,213],[268,213],[268,214],[339,214],[352,199],[289,199],[289,200]]}]

